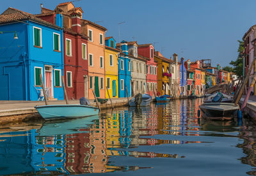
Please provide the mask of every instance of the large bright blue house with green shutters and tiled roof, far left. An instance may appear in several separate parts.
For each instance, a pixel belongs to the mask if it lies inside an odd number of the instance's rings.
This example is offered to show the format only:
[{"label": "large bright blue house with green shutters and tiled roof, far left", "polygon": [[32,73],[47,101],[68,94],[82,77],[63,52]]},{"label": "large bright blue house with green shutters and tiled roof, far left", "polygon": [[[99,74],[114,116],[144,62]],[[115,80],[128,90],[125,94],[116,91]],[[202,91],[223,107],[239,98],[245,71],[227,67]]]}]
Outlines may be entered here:
[{"label": "large bright blue house with green shutters and tiled roof, far left", "polygon": [[38,100],[40,74],[49,99],[63,99],[62,15],[51,24],[8,8],[0,24],[0,100]]}]

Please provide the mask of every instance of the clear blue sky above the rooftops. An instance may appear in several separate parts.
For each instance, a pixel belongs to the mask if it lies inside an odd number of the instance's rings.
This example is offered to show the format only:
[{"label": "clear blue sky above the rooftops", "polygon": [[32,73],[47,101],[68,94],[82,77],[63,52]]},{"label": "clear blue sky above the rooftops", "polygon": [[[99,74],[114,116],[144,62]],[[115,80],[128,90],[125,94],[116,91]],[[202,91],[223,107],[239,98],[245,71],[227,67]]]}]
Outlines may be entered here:
[{"label": "clear blue sky above the rooftops", "polygon": [[[9,6],[40,13],[40,3],[54,9],[67,0],[1,1],[1,13]],[[153,43],[164,57],[177,53],[185,59],[212,59],[228,66],[237,57],[237,40],[256,24],[255,0],[81,0],[74,2],[83,18],[108,29],[106,36]],[[100,22],[99,22],[100,21]]]}]

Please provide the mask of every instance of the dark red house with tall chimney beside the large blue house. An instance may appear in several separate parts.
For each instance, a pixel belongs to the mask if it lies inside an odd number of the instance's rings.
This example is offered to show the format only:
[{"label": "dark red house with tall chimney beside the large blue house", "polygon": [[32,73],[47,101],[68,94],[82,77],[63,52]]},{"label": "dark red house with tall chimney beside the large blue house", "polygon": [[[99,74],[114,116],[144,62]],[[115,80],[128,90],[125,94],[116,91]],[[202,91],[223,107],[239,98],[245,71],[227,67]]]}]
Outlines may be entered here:
[{"label": "dark red house with tall chimney beside the large blue house", "polygon": [[[67,6],[72,6],[72,10],[65,12]],[[54,24],[56,13],[63,15],[63,76],[68,99],[88,98],[88,36],[81,33],[83,10],[75,8],[72,2],[61,3],[55,10],[41,6],[41,14],[36,17]]]}]

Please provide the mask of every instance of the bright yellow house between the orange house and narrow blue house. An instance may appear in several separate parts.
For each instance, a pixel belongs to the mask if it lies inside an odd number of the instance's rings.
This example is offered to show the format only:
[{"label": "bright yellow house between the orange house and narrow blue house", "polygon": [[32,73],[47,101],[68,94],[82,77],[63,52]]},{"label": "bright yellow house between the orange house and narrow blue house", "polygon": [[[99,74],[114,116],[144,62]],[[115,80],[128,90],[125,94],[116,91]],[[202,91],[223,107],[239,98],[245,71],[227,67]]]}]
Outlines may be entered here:
[{"label": "bright yellow house between the orange house and narrow blue house", "polygon": [[[105,38],[106,98],[118,98],[118,53],[113,37]],[[108,89],[108,91],[107,91]],[[108,96],[109,92],[109,96]]]}]

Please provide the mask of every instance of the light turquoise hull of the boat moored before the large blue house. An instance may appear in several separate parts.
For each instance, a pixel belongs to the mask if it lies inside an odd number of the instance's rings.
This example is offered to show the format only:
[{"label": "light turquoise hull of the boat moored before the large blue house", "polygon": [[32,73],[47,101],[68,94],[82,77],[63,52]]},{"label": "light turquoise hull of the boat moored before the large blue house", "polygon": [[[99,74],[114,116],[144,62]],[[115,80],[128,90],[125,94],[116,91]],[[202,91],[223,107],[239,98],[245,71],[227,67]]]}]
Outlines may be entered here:
[{"label": "light turquoise hull of the boat moored before the large blue house", "polygon": [[46,121],[88,117],[99,114],[99,108],[86,105],[45,105],[35,106],[35,108]]}]

